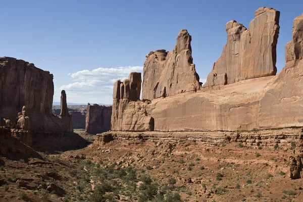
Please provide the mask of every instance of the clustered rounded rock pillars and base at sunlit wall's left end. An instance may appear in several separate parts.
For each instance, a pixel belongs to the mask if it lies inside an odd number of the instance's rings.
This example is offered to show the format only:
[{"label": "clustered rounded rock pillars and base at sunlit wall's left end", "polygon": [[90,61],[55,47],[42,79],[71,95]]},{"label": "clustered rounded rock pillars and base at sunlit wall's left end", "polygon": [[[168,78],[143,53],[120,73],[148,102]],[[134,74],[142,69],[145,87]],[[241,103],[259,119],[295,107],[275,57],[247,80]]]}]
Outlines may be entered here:
[{"label": "clustered rounded rock pillars and base at sunlit wall's left end", "polygon": [[122,131],[154,130],[154,119],[147,116],[140,101],[141,73],[131,72],[123,83],[117,80],[113,92],[111,129]]}]

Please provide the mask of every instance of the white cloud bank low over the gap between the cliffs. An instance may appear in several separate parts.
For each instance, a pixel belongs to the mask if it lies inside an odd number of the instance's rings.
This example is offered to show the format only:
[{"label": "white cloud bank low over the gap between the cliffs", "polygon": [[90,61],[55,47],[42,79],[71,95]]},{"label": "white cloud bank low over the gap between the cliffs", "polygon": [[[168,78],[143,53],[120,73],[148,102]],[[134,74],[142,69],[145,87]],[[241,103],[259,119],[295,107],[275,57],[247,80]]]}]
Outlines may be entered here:
[{"label": "white cloud bank low over the gap between the cliffs", "polygon": [[[143,67],[97,68],[69,73],[71,83],[62,85],[60,90],[67,93],[71,103],[112,104],[113,85],[116,80],[123,81],[130,72],[141,72]],[[55,93],[56,94],[56,93]]]}]

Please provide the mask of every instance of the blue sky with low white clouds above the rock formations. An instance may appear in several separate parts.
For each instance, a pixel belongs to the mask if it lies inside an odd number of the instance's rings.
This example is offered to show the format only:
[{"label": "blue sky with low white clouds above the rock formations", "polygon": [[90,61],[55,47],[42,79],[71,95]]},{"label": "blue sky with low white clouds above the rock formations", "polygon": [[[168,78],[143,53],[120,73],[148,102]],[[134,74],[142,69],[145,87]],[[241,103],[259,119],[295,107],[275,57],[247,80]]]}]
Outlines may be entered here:
[{"label": "blue sky with low white clouds above the rock formations", "polygon": [[193,62],[206,79],[226,43],[226,22],[248,28],[263,6],[281,12],[279,72],[302,1],[1,1],[0,56],[54,74],[54,102],[65,89],[68,102],[111,104],[114,81],[141,71],[150,51],[171,51],[181,29],[192,36]]}]

